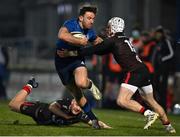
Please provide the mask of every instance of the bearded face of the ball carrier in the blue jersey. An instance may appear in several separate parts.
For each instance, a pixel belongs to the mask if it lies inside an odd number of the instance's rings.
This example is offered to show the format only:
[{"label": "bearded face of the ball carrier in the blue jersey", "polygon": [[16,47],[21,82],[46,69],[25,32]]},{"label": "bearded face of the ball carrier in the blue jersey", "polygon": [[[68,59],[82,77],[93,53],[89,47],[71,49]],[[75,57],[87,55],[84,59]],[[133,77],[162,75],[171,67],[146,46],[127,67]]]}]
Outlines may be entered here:
[{"label": "bearded face of the ball carrier in the blue jersey", "polygon": [[83,29],[90,29],[93,27],[96,15],[93,12],[86,12],[83,16],[79,17]]}]

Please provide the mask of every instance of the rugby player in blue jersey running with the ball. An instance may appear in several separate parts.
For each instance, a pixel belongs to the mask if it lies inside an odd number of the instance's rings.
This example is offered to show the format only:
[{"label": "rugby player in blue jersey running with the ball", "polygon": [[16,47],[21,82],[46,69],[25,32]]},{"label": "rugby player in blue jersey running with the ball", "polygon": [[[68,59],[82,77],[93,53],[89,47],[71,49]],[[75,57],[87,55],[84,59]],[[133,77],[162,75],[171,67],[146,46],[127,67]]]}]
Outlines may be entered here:
[{"label": "rugby player in blue jersey running with the ball", "polygon": [[[92,29],[96,12],[96,7],[82,7],[78,18],[65,21],[59,29],[56,44],[55,67],[64,86],[71,92],[79,106],[92,120],[92,127],[100,129],[97,117],[92,112],[91,106],[82,92],[84,89],[89,89],[92,91],[95,99],[101,99],[100,91],[88,78],[84,57],[61,58],[57,55],[58,52],[63,49],[78,50],[86,46],[88,42],[93,45],[102,42],[102,39],[98,37]],[[73,36],[76,33],[81,33],[84,37],[77,38]]]}]

